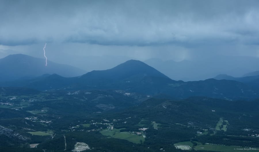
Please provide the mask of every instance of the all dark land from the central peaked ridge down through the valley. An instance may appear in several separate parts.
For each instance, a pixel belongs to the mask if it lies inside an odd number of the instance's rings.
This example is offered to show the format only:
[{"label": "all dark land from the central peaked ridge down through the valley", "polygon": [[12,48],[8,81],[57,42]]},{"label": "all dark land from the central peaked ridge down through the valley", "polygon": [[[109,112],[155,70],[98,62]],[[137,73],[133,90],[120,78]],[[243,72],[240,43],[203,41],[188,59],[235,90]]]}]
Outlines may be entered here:
[{"label": "all dark land from the central peaked ridge down through the valley", "polygon": [[0,88],[0,151],[259,150],[258,90],[241,82],[174,81],[130,60],[9,85]]}]

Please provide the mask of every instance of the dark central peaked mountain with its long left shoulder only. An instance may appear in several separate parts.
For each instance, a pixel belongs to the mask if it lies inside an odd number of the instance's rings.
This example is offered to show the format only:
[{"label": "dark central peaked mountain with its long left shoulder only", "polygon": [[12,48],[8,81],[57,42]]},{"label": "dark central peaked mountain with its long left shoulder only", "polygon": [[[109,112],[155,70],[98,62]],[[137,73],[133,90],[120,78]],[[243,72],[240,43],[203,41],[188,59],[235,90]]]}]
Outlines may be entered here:
[{"label": "dark central peaked mountain with its long left shoulder only", "polygon": [[28,87],[38,90],[128,90],[131,92],[159,93],[168,83],[176,81],[147,64],[129,60],[112,69],[91,71],[80,77],[65,78],[57,74],[44,75],[28,80],[2,83],[2,86]]}]

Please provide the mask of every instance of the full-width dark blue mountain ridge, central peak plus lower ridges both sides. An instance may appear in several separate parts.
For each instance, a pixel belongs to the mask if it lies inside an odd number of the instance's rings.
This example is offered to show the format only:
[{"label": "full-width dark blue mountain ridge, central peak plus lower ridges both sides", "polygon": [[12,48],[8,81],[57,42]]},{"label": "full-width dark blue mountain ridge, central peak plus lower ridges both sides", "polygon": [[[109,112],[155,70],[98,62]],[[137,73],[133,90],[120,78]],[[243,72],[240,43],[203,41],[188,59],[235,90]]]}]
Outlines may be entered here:
[{"label": "full-width dark blue mountain ridge, central peak plus lower ridges both sides", "polygon": [[204,81],[174,81],[153,67],[129,60],[112,69],[91,71],[79,77],[65,78],[57,74],[29,80],[3,83],[2,86],[27,87],[38,90],[124,90],[151,96],[170,98],[208,96],[228,98],[258,98],[258,89],[233,81],[206,79]]}]

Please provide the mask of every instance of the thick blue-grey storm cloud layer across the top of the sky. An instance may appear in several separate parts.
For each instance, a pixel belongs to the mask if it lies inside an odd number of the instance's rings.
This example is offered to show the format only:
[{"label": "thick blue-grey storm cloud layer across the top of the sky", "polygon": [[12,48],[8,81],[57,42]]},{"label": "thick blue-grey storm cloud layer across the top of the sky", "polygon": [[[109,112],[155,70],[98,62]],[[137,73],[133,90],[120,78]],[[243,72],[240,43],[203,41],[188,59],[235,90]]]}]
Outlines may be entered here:
[{"label": "thick blue-grey storm cloud layer across the top of the sky", "polygon": [[258,1],[1,1],[0,43],[202,45],[258,40]]}]

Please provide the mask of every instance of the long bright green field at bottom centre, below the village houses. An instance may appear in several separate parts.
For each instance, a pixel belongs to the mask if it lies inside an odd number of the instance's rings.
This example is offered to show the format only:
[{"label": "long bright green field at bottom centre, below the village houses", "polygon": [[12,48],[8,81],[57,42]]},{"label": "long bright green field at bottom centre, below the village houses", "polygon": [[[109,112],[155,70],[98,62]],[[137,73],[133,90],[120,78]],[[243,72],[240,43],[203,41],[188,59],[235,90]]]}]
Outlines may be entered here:
[{"label": "long bright green field at bottom centre, below the village houses", "polygon": [[104,130],[104,131],[101,131],[101,134],[104,136],[111,136],[113,138],[125,139],[136,144],[140,144],[141,141],[144,142],[145,140],[145,138],[141,135],[130,134],[128,132],[115,132],[115,131]]}]

